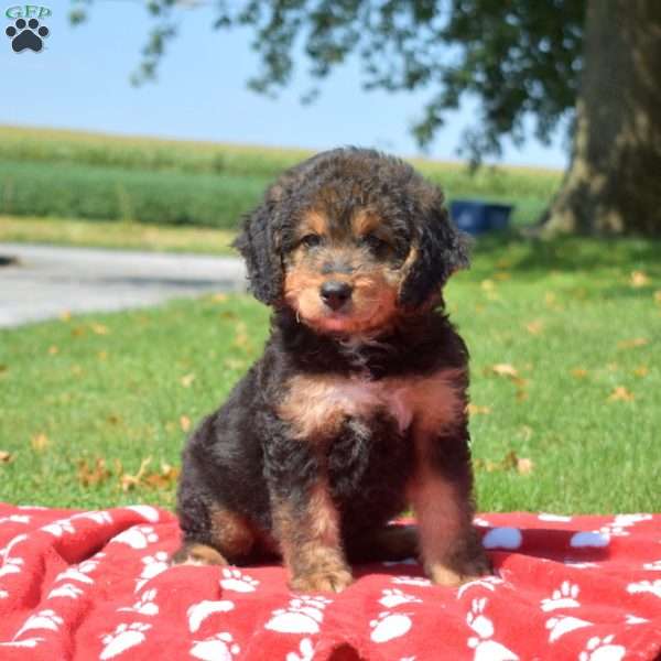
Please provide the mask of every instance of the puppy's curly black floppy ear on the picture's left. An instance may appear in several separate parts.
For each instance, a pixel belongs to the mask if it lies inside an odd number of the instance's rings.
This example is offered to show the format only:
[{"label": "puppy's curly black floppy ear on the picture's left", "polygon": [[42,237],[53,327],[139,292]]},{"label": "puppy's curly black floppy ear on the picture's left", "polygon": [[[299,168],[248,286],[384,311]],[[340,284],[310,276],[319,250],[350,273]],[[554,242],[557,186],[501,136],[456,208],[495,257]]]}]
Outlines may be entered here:
[{"label": "puppy's curly black floppy ear on the picture's left", "polygon": [[267,199],[243,219],[243,229],[235,239],[248,267],[250,291],[272,305],[282,296],[282,260],[277,203]]}]

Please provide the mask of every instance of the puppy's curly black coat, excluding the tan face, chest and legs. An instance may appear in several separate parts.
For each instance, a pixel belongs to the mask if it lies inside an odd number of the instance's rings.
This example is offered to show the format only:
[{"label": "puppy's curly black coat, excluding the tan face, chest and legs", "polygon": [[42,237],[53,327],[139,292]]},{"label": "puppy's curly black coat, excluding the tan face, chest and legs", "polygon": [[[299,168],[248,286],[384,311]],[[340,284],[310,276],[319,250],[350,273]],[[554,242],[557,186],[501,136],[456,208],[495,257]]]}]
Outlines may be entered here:
[{"label": "puppy's curly black coat, excluding the tan face, chest and legs", "polygon": [[[408,256],[414,256],[405,266],[394,322],[368,338],[323,333],[300,323],[284,300],[285,262],[297,245],[296,229],[304,214],[321,203],[337,224],[346,224],[358,208],[376,209],[392,234],[393,269],[404,269]],[[278,413],[286,384],[296,376],[413,382],[438,370],[455,370],[452,373],[459,376],[453,377],[454,390],[463,408],[468,351],[443,313],[440,292],[455,270],[467,266],[466,242],[448,219],[441,191],[410,165],[348,148],[322,153],[282,175],[246,219],[236,246],[246,259],[251,291],[273,306],[272,333],[263,356],[220,409],[202,422],[184,451],[178,490],[184,548],[176,560],[186,560],[192,544],[213,546],[231,562],[252,557],[232,554],[213,523],[218,509],[245,523],[253,538],[251,552],[283,551],[280,537],[285,533],[274,508],[286,503],[288,516],[305,528],[306,508],[321,476],[339,517],[339,544],[350,550],[353,540],[381,529],[407,507],[407,487],[420,470],[413,423],[402,430],[391,411],[376,407],[362,416],[347,415],[332,437],[301,440],[292,422]],[[425,460],[438,479],[456,486],[462,521],[469,528],[465,412],[432,441]],[[469,560],[477,559],[479,565],[481,551],[468,528],[457,548],[469,549]],[[305,531],[296,535],[294,554],[296,544],[308,542]],[[292,561],[294,574],[301,571],[297,566]]]}]

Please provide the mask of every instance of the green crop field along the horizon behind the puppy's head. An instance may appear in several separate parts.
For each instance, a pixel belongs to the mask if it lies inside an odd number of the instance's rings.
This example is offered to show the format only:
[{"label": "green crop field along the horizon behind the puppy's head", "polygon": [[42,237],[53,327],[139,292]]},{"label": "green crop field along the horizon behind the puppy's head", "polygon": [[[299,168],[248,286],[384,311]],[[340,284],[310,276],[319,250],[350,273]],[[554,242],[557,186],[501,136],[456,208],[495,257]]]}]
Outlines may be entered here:
[{"label": "green crop field along the horizon behind the puppy's head", "polygon": [[[0,214],[235,229],[264,187],[312,152],[0,127]],[[446,196],[514,204],[535,220],[561,173],[412,160]]]}]

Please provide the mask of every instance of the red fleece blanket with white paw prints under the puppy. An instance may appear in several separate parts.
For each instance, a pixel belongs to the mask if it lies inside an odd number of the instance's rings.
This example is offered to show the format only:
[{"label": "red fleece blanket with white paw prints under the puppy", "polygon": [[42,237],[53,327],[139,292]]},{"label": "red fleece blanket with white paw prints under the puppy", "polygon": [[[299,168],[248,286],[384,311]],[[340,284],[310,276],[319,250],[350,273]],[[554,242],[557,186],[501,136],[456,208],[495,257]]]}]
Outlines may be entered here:
[{"label": "red fleece blanket with white paw prints under the puppy", "polygon": [[0,505],[0,660],[654,659],[661,514],[484,514],[498,576],[435,587],[414,561],[297,595],[280,566],[167,565],[149,506]]}]

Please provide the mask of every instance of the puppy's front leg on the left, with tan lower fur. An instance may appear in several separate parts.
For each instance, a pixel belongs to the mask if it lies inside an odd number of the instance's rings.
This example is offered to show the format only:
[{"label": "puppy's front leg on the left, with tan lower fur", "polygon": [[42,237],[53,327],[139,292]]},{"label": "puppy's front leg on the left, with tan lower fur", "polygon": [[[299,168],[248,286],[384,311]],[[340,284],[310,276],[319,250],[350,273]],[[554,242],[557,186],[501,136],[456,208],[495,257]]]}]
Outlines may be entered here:
[{"label": "puppy's front leg on the left, with tan lower fur", "polygon": [[351,583],[333,503],[314,445],[271,438],[266,456],[273,532],[290,573],[290,586],[301,592],[340,592]]}]

